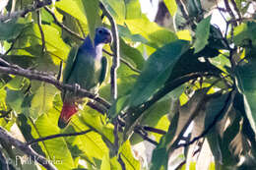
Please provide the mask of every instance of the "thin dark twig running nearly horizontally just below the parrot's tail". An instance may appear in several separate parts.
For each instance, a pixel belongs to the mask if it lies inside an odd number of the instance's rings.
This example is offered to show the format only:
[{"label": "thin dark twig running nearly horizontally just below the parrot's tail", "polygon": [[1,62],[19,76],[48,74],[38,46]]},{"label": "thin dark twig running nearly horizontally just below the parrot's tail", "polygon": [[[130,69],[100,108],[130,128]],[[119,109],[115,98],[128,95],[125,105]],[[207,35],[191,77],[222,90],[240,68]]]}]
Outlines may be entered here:
[{"label": "thin dark twig running nearly horizontally just below the parrot's tail", "polygon": [[56,134],[56,135],[52,135],[52,136],[47,136],[47,137],[42,137],[42,138],[38,138],[38,139],[35,139],[35,140],[32,140],[31,142],[27,142],[27,145],[31,145],[33,143],[36,143],[36,142],[44,142],[46,140],[52,140],[52,139],[56,139],[56,138],[62,138],[62,137],[74,137],[74,136],[82,136],[82,135],[85,135],[85,134],[88,134],[92,132],[92,130],[87,130],[87,131],[82,131],[82,132],[79,132],[79,133],[72,133],[72,134]]}]

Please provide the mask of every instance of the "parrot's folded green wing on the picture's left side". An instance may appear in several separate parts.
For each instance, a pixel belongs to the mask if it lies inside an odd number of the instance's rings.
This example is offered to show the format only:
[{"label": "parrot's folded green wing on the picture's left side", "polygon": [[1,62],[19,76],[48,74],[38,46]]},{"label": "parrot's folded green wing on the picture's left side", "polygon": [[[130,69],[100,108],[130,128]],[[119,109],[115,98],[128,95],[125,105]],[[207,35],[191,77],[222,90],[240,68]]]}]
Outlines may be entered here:
[{"label": "parrot's folded green wing on the picture's left side", "polygon": [[63,71],[63,79],[62,79],[63,84],[67,84],[68,79],[71,75],[71,72],[74,69],[73,67],[77,58],[78,49],[79,49],[79,46],[74,46],[71,48],[69,52],[68,59],[66,61],[66,67]]}]

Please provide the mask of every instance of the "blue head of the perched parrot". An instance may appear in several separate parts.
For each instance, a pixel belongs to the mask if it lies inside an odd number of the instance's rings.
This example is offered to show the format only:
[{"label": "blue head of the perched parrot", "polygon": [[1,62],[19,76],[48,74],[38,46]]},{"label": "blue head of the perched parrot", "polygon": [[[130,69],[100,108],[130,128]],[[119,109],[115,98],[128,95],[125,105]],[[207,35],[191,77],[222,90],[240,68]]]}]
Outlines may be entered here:
[{"label": "blue head of the perched parrot", "polygon": [[95,46],[101,43],[111,43],[112,33],[108,28],[96,28]]}]

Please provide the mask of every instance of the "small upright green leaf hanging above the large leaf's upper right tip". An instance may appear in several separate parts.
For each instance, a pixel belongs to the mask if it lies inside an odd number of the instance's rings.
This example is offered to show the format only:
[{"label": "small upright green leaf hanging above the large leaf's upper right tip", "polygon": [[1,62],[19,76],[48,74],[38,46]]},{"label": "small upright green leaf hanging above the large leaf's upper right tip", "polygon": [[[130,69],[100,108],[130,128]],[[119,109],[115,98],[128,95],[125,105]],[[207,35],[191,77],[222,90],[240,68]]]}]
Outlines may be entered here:
[{"label": "small upright green leaf hanging above the large leaf's upper right tip", "polygon": [[196,41],[194,43],[195,53],[201,51],[207,44],[208,38],[210,35],[210,26],[211,26],[212,16],[207,17],[202,20],[196,28]]}]

